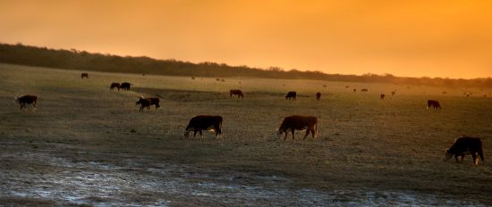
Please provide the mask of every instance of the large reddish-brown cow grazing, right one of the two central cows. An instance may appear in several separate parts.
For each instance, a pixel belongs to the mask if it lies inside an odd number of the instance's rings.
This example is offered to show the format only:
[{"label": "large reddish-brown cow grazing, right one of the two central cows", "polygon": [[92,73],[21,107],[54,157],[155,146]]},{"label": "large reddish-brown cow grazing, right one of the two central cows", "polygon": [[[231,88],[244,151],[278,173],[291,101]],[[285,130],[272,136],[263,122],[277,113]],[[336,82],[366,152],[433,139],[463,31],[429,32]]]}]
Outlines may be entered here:
[{"label": "large reddish-brown cow grazing, right one of the two central cows", "polygon": [[311,117],[311,116],[299,116],[299,115],[294,115],[290,117],[285,117],[284,121],[282,121],[282,124],[280,125],[280,128],[278,128],[278,136],[281,136],[282,133],[285,133],[284,140],[287,138],[287,130],[291,130],[293,134],[293,139],[294,139],[294,130],[304,130],[306,129],[306,135],[304,136],[305,139],[310,135],[314,138],[318,136],[318,119],[316,117]]}]

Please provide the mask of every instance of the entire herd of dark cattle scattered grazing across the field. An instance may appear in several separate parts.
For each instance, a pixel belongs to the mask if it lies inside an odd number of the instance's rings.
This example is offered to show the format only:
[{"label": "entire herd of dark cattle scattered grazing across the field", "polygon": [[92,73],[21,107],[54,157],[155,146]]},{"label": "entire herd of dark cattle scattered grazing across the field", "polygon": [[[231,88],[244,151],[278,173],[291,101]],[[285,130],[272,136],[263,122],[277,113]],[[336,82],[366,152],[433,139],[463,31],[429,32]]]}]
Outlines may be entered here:
[{"label": "entire herd of dark cattle scattered grazing across the field", "polygon": [[[82,73],[81,79],[89,79],[88,73]],[[219,79],[220,81],[220,79]],[[123,83],[112,83],[110,85],[110,90],[114,90],[115,88],[120,90],[130,90],[131,83],[123,82]],[[325,87],[325,86],[324,86]],[[361,91],[368,91],[368,89],[363,88]],[[354,89],[355,92],[355,89]],[[238,98],[244,98],[242,90],[240,89],[231,89],[229,91],[229,96],[237,95]],[[394,91],[392,92],[394,95]],[[319,101],[321,98],[321,93],[316,93],[316,99]],[[384,99],[386,95],[381,94],[380,99]],[[297,93],[295,91],[289,91],[287,95],[285,95],[286,100],[296,100]],[[20,97],[15,97],[14,102],[21,105],[22,108],[27,108],[28,104],[33,105],[34,109],[36,109],[38,101],[38,96],[36,95],[23,95]],[[158,97],[144,97],[140,95],[139,100],[136,103],[140,104],[139,112],[143,112],[144,108],[150,109],[150,106],[155,105],[156,109],[160,107],[159,98]],[[440,110],[442,109],[441,104],[436,100],[428,100],[427,109],[430,108]],[[222,134],[222,121],[224,119],[222,116],[214,116],[214,115],[198,115],[191,118],[188,126],[185,128],[184,136],[189,137],[190,133],[193,132],[193,137],[196,137],[197,133],[199,133],[200,137],[202,137],[202,130],[210,130],[216,133],[216,138]],[[280,127],[277,130],[277,135],[282,136],[284,134],[284,140],[287,138],[289,131],[292,133],[294,139],[294,131],[295,130],[306,130],[306,134],[303,139],[308,137],[310,134],[313,138],[318,136],[318,119],[312,116],[301,116],[301,115],[293,115],[289,117],[285,117],[282,121]],[[449,160],[454,156],[455,161],[458,161],[458,157],[461,157],[461,161],[465,154],[471,154],[473,163],[478,164],[479,158],[484,161],[482,142],[480,138],[477,137],[460,137],[456,139],[454,144],[445,151],[445,161]]]}]

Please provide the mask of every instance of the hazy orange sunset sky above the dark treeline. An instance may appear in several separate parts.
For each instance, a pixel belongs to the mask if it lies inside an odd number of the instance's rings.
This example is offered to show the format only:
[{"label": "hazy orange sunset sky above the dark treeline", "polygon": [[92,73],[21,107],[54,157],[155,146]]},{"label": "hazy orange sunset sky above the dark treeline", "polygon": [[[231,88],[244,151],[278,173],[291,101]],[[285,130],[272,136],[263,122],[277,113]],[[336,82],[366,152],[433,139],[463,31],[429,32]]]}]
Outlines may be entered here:
[{"label": "hazy orange sunset sky above the dark treeline", "polygon": [[0,42],[470,79],[492,77],[492,1],[0,0]]}]

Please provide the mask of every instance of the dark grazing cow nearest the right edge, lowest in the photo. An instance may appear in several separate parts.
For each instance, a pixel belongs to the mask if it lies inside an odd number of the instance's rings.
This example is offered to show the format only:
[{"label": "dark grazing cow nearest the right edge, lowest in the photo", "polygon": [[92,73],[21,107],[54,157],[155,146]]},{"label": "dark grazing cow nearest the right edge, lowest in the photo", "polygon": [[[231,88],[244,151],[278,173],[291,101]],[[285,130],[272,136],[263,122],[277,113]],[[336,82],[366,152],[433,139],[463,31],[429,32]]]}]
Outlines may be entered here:
[{"label": "dark grazing cow nearest the right edge, lowest in the photo", "polygon": [[[445,159],[447,161],[454,155],[454,160],[458,162],[458,156],[463,157],[465,154],[471,154],[474,164],[479,164],[479,158],[484,161],[482,141],[476,137],[460,137],[454,141],[454,144],[445,151]],[[477,157],[478,155],[478,157]]]}]

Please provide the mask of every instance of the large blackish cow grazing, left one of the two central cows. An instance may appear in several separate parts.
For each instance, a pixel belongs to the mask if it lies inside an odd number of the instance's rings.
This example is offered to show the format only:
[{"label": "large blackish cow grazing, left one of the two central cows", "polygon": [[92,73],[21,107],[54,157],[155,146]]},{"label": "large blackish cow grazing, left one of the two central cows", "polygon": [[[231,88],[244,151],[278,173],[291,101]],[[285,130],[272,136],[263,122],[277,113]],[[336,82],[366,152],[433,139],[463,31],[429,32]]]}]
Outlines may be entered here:
[{"label": "large blackish cow grazing, left one of the two central cows", "polygon": [[188,126],[184,129],[184,137],[190,137],[190,132],[193,132],[193,137],[197,136],[199,132],[199,137],[203,137],[201,134],[202,130],[213,130],[216,132],[217,138],[222,134],[222,117],[212,116],[212,115],[198,115],[191,118]]}]

